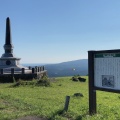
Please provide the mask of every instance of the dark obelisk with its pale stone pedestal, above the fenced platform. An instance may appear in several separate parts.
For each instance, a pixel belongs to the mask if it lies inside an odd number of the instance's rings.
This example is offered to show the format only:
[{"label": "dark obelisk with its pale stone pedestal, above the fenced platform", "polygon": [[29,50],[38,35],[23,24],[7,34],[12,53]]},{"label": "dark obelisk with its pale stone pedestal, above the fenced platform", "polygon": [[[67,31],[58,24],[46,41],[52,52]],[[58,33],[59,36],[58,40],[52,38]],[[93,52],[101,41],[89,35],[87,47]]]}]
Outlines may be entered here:
[{"label": "dark obelisk with its pale stone pedestal, above the fenced platform", "polygon": [[11,29],[10,29],[10,19],[6,19],[6,35],[5,35],[5,45],[3,46],[5,53],[2,54],[0,58],[0,69],[11,69],[20,70],[21,68],[28,69],[20,65],[20,58],[15,57],[13,54],[13,44],[11,39]]}]

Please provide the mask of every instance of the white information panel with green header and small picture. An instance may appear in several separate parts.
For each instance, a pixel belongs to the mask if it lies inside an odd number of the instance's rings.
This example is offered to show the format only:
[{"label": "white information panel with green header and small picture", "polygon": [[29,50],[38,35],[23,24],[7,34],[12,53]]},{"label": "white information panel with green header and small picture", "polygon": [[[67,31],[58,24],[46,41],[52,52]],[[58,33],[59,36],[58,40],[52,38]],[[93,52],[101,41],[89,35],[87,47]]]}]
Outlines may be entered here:
[{"label": "white information panel with green header and small picture", "polygon": [[120,90],[120,53],[94,54],[94,86]]}]

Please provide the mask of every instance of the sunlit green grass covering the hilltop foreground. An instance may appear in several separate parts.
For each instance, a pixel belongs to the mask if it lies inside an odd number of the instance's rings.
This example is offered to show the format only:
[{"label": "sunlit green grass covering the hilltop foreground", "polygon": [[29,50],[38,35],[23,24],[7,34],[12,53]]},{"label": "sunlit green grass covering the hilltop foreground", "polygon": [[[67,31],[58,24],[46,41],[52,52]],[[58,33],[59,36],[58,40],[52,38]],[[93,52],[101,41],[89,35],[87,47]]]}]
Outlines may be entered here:
[{"label": "sunlit green grass covering the hilltop foreground", "polygon": [[[97,114],[89,116],[88,80],[73,82],[70,78],[56,78],[49,87],[0,84],[0,120],[15,120],[28,115],[50,120],[120,119],[119,94],[97,91]],[[74,93],[82,93],[84,97],[74,97]],[[70,104],[64,112],[66,96],[70,96]]]}]

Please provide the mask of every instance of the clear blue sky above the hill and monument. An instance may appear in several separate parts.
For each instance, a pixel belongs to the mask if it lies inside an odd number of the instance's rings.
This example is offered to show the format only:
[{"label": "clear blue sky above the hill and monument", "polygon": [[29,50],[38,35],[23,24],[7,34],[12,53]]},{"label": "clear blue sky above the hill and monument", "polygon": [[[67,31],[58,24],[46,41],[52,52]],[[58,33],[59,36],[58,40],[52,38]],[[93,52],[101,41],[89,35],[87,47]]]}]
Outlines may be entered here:
[{"label": "clear blue sky above the hill and monument", "polygon": [[60,63],[120,48],[120,0],[0,0],[0,55],[7,17],[21,63]]}]

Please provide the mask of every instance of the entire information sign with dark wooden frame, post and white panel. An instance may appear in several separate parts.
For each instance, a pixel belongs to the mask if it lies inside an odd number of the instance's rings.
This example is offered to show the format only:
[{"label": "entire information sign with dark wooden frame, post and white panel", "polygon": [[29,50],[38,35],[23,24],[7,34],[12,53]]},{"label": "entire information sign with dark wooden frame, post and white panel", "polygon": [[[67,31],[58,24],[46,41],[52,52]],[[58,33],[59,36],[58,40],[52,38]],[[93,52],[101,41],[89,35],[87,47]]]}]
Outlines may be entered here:
[{"label": "entire information sign with dark wooden frame, post and white panel", "polygon": [[[108,64],[108,61],[109,61],[109,64]],[[115,86],[116,84],[114,84],[115,83],[114,77],[116,78],[115,76],[116,74],[115,72],[114,72],[114,75],[112,74],[113,72],[112,67],[111,67],[111,70],[109,70],[110,68],[109,66],[113,63],[113,61],[116,62],[115,64],[113,64],[114,69],[116,71],[120,70],[120,66],[119,66],[120,65],[120,49],[88,51],[89,114],[90,115],[96,113],[96,90],[120,93],[120,87],[119,86],[116,87]],[[98,63],[101,65],[98,65]],[[110,72],[107,72],[107,70],[109,70]],[[117,82],[119,82],[120,76],[119,75],[117,76],[118,77],[116,79],[117,79]]]}]

